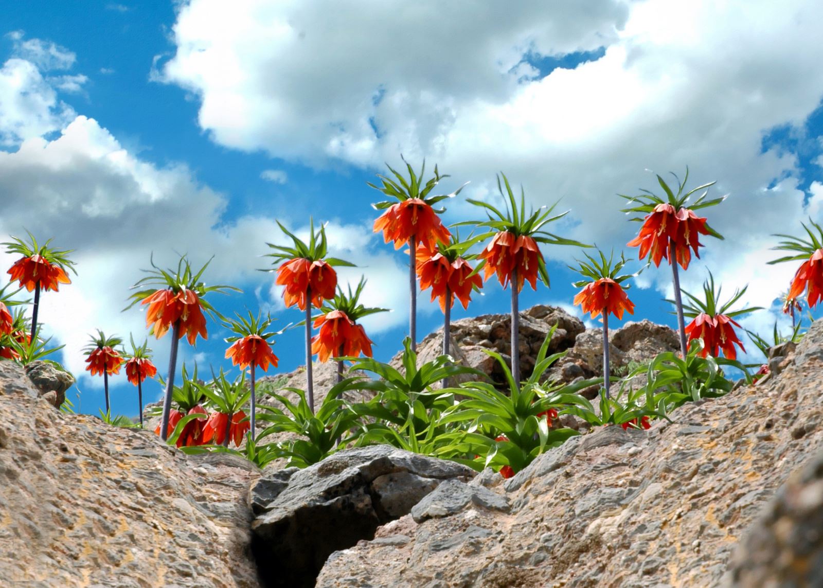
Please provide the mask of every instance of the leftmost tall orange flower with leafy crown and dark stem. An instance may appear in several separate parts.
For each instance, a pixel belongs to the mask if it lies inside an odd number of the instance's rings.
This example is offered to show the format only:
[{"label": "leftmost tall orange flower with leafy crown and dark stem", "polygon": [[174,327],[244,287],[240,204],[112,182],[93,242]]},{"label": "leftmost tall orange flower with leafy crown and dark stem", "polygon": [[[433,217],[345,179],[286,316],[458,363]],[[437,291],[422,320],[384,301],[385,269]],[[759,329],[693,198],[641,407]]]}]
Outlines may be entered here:
[{"label": "leftmost tall orange flower with leafy crown and dark stem", "polygon": [[72,271],[75,275],[77,271],[74,269],[74,262],[68,258],[68,254],[73,250],[49,247],[51,239],[40,245],[35,236],[31,233],[28,235],[29,240],[27,241],[11,236],[10,242],[0,245],[6,245],[7,253],[22,255],[7,273],[12,277],[12,282],[16,280],[20,283],[20,287],[25,287],[29,292],[35,292],[31,310],[31,333],[35,333],[37,315],[40,310],[40,291],[58,292],[60,284],[72,282],[68,278],[67,271]]}]

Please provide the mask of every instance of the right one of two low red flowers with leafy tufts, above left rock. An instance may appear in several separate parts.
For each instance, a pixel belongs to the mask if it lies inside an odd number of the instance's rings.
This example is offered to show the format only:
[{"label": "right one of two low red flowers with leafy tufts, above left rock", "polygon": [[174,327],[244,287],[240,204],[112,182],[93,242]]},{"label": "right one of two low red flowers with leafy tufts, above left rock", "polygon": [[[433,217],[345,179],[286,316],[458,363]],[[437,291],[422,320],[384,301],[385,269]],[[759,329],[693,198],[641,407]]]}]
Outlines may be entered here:
[{"label": "right one of two low red flowers with leafy tufts, above left rock", "polygon": [[[243,438],[251,426],[243,408],[249,402],[251,390],[246,387],[245,371],[234,381],[226,380],[226,374],[220,371],[215,376],[212,371],[212,381],[206,385],[198,383],[198,389],[207,399],[211,400],[210,408],[214,412],[209,416],[203,427],[203,443],[213,442],[215,445],[229,446],[229,440],[235,446],[243,443]],[[252,404],[253,414],[253,404]],[[252,436],[254,430],[252,429]]]}]

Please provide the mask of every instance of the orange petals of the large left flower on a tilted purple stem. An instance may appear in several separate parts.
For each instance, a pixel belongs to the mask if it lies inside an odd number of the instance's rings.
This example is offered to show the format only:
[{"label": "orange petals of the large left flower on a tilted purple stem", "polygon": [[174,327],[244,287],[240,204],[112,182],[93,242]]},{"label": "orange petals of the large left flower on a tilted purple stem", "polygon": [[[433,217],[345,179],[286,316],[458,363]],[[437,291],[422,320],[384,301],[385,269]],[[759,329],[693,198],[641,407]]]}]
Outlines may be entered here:
[{"label": "orange petals of the large left flower on a tilted purple stem", "polygon": [[176,294],[173,290],[157,290],[141,302],[147,304],[146,326],[151,326],[151,333],[156,338],[165,335],[169,327],[180,321],[180,334],[188,338],[188,343],[194,344],[198,334],[206,339],[206,317],[202,313],[200,300],[193,290],[180,290]]}]

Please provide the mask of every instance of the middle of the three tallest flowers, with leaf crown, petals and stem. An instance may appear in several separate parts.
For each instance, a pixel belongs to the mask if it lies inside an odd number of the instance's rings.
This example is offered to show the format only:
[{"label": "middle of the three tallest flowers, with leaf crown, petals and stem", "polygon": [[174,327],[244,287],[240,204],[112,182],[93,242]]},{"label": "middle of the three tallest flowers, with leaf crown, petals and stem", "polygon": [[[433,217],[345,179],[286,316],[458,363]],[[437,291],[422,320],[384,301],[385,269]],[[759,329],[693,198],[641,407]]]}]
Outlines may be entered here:
[{"label": "middle of the three tallest flowers, with leaf crown, petals and stem", "polygon": [[[500,178],[503,183],[500,183]],[[505,193],[503,192],[505,186]],[[551,222],[555,222],[565,217],[569,211],[552,216],[552,212],[557,203],[551,207],[541,207],[537,211],[526,212],[526,194],[523,187],[520,188],[520,203],[514,198],[509,180],[501,172],[497,176],[497,189],[500,197],[506,204],[505,212],[500,212],[490,203],[481,200],[469,199],[467,202],[486,210],[488,220],[484,222],[461,222],[463,224],[474,224],[485,226],[492,231],[487,232],[478,239],[485,240],[491,237],[491,242],[477,257],[482,259],[477,270],[486,268],[486,280],[493,273],[497,274],[500,285],[505,289],[509,282],[512,285],[511,296],[511,371],[516,385],[520,384],[520,352],[519,352],[519,310],[518,295],[523,290],[523,283],[529,282],[532,290],[537,290],[537,277],[539,275],[546,287],[551,287],[549,273],[546,270],[546,262],[540,252],[538,244],[543,245],[577,245],[578,247],[590,247],[579,241],[566,239],[554,233],[546,231],[544,228]]]}]

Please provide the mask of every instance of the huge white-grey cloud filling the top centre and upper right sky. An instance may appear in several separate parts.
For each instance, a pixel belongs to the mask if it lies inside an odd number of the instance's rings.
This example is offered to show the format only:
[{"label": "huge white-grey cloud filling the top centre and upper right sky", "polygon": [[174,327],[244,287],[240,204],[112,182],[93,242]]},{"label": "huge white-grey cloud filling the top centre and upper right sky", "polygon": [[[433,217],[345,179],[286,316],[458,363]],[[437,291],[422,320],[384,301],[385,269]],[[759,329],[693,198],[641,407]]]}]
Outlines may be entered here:
[{"label": "huge white-grey cloud filling the top centre and upper right sky", "polygon": [[[797,232],[821,186],[799,189],[796,155],[764,150],[764,138],[776,127],[802,133],[821,105],[821,22],[811,0],[518,10],[189,0],[159,71],[200,100],[199,124],[222,145],[315,166],[425,156],[480,197],[493,197],[490,180],[505,170],[532,203],[562,198],[572,209],[558,231],[604,247],[624,246],[636,228],[616,193],[655,189],[646,168],[682,175],[689,165],[693,181],[730,194],[706,211],[726,240],[704,238],[704,262],[729,287],[751,282],[748,301],[770,306],[791,268],[765,266],[767,236]],[[591,59],[547,72],[551,58],[579,52]],[[686,287],[704,277],[695,264]],[[644,276],[661,288],[668,279]]]}]

